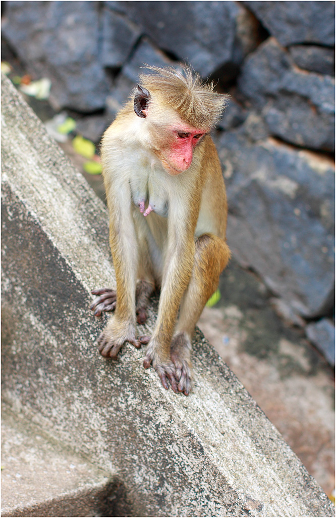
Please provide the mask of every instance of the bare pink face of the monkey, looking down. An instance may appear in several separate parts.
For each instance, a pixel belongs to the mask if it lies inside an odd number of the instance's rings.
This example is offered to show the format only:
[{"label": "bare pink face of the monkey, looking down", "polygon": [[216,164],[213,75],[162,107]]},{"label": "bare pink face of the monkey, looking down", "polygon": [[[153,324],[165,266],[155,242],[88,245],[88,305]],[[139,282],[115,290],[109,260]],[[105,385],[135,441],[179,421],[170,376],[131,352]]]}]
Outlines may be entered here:
[{"label": "bare pink face of the monkey, looking down", "polygon": [[170,175],[179,175],[189,169],[193,151],[206,132],[188,126],[169,128],[161,148],[161,161]]}]

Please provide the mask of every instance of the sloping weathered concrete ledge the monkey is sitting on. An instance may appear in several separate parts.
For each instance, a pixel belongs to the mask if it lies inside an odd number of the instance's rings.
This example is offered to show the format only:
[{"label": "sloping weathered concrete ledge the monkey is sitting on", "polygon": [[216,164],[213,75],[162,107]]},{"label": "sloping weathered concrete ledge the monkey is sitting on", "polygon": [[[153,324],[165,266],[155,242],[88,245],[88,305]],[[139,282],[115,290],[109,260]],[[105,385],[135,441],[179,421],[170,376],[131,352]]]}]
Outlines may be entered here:
[{"label": "sloping weathered concrete ledge the monkey is sitting on", "polygon": [[114,285],[106,209],[6,78],[2,110],[3,398],[11,408],[116,473],[127,516],[333,516],[200,332],[189,397],[165,391],[143,369],[143,351],[99,356],[94,341],[106,318],[95,321],[88,305],[91,288]]}]

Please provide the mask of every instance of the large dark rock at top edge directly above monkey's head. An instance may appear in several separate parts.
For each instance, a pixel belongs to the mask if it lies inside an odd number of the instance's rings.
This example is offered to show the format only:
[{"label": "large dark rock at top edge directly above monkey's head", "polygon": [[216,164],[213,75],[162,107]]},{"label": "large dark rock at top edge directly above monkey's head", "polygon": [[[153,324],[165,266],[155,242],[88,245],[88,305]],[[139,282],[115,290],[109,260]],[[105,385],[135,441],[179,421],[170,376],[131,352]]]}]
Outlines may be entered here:
[{"label": "large dark rock at top edge directly above monkey's head", "polygon": [[[237,67],[255,48],[255,19],[236,2],[113,2],[163,51],[202,76]],[[236,74],[236,70],[232,70]]]}]

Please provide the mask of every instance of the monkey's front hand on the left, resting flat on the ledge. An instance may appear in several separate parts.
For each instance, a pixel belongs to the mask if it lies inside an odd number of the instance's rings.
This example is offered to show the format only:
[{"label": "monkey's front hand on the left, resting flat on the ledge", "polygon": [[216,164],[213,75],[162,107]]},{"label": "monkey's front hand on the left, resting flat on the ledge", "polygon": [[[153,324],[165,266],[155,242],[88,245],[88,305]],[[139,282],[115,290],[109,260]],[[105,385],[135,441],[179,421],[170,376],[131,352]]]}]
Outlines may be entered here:
[{"label": "monkey's front hand on the left, resting flat on the ledge", "polygon": [[126,342],[131,343],[136,349],[140,349],[141,344],[149,342],[149,337],[140,336],[137,339],[132,324],[118,322],[115,318],[111,318],[98,338],[98,350],[105,358],[115,359]]}]

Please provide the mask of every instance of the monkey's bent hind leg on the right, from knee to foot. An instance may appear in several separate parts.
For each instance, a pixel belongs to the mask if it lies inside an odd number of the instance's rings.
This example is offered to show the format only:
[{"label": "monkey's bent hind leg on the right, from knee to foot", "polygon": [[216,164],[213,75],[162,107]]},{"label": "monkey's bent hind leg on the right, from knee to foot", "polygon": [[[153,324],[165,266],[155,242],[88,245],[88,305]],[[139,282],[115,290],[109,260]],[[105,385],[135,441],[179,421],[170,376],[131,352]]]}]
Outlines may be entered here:
[{"label": "monkey's bent hind leg on the right, from knee to foot", "polygon": [[204,234],[196,241],[195,262],[188,289],[182,299],[180,314],[171,344],[178,390],[188,395],[191,389],[191,341],[204,306],[216,291],[219,276],[230,259],[225,241]]}]

